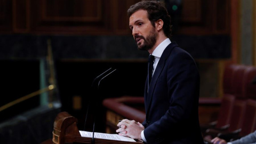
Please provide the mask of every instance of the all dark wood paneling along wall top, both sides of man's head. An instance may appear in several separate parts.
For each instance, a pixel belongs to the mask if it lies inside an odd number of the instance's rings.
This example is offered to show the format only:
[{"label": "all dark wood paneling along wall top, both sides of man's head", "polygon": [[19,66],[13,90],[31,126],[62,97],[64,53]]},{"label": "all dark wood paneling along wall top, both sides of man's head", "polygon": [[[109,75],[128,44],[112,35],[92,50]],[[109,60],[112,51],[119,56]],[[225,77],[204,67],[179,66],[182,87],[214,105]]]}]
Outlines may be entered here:
[{"label": "all dark wood paneling along wall top, both sides of man's head", "polygon": [[[131,35],[140,0],[0,0],[0,33]],[[230,0],[184,0],[178,34],[229,34]]]}]

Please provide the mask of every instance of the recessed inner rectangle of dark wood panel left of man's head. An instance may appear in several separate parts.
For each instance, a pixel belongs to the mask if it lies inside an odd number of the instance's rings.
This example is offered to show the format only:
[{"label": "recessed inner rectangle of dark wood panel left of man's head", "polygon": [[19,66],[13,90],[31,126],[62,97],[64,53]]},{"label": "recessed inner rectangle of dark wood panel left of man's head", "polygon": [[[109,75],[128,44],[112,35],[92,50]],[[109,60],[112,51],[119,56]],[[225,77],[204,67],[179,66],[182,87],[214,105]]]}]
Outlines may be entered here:
[{"label": "recessed inner rectangle of dark wood panel left of man's head", "polygon": [[41,0],[42,21],[99,22],[102,0]]}]

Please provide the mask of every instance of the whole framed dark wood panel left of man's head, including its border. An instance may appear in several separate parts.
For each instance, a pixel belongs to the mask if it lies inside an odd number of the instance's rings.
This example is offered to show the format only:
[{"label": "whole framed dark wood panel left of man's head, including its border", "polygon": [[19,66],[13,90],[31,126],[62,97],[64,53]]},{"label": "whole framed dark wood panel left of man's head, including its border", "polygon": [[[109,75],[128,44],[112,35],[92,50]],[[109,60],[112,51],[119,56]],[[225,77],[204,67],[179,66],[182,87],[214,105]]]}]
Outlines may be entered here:
[{"label": "whole framed dark wood panel left of man's head, including its border", "polygon": [[111,0],[35,0],[31,31],[40,33],[104,34],[110,29]]}]

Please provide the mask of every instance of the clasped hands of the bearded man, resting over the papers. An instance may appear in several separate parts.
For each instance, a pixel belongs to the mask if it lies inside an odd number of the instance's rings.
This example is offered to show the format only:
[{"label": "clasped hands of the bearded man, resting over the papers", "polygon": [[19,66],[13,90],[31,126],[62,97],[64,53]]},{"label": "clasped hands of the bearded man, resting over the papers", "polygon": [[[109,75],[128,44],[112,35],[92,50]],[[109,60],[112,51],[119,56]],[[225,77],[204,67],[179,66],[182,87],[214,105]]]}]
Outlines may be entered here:
[{"label": "clasped hands of the bearded man, resting over the papers", "polygon": [[117,126],[119,127],[119,129],[116,130],[118,135],[142,140],[141,131],[143,131],[145,127],[141,123],[135,122],[134,120],[123,119]]}]

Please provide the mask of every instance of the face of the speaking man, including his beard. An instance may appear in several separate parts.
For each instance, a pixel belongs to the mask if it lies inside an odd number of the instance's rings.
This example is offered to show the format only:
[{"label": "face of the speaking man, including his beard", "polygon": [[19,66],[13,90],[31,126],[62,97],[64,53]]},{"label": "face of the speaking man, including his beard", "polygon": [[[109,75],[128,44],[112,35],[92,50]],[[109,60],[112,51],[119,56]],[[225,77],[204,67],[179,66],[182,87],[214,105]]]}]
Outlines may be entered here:
[{"label": "face of the speaking man, including his beard", "polygon": [[129,27],[140,50],[150,50],[156,44],[157,30],[151,25],[147,11],[139,10],[130,17]]}]

